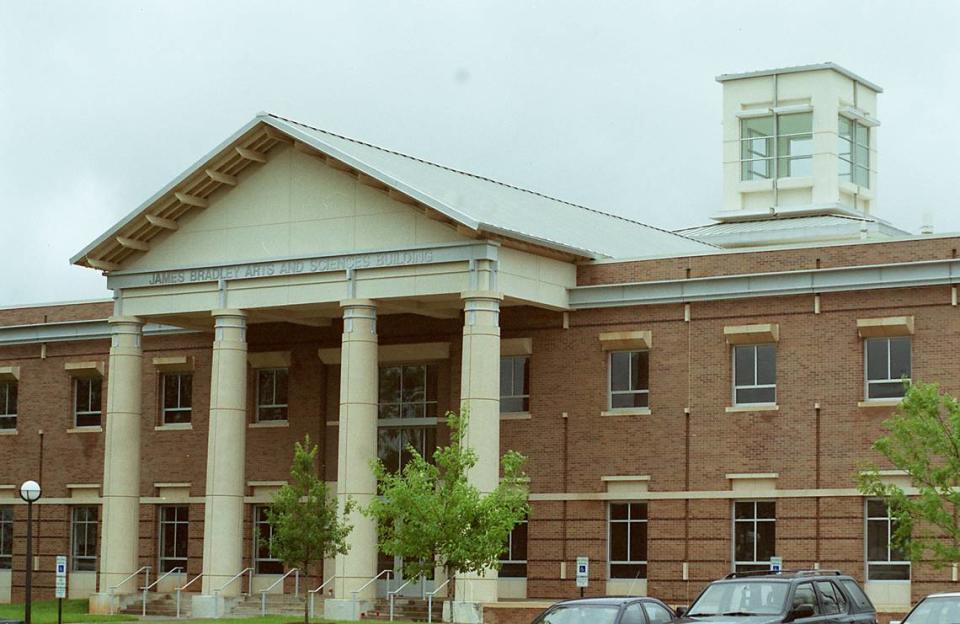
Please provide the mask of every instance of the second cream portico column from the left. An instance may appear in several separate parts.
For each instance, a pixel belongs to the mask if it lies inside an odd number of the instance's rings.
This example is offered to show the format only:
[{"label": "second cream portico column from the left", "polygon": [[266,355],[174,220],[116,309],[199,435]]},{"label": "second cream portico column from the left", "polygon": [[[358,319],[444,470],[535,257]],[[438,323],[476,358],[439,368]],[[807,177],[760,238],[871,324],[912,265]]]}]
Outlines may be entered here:
[{"label": "second cream portico column from the left", "polygon": [[203,514],[203,586],[194,616],[220,615],[222,598],[240,593],[245,579],[223,591],[243,568],[243,494],[247,431],[247,322],[240,310],[214,310]]}]

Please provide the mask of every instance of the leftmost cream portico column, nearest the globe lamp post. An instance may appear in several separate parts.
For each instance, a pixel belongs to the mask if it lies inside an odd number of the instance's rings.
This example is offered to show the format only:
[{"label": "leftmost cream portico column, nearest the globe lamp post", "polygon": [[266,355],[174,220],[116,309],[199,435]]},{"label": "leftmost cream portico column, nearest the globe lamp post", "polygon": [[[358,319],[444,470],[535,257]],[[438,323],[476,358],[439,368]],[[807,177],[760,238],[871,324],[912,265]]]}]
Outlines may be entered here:
[{"label": "leftmost cream portico column, nearest the globe lamp post", "polygon": [[140,567],[140,420],[143,321],[112,317],[107,371],[106,439],[103,455],[103,507],[100,532],[99,593],[90,610],[110,611],[110,590],[130,594],[137,579],[120,581]]}]

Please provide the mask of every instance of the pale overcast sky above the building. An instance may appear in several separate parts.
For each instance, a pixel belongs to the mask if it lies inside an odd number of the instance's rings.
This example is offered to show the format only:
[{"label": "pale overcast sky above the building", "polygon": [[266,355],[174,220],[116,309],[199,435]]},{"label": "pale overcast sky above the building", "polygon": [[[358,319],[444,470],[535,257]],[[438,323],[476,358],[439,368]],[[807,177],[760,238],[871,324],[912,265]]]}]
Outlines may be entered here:
[{"label": "pale overcast sky above the building", "polygon": [[258,111],[676,229],[720,208],[721,73],[884,87],[878,215],[960,231],[960,2],[0,0],[0,305]]}]

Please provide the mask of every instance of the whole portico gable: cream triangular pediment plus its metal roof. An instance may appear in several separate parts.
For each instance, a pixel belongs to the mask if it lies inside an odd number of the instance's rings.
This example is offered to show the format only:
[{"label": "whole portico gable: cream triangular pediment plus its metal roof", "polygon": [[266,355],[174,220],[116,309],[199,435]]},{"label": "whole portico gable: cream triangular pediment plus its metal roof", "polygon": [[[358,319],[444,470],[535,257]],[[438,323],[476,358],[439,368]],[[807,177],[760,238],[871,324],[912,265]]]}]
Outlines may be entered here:
[{"label": "whole portico gable: cream triangular pediment plus its metal roof", "polygon": [[581,258],[709,245],[261,114],[72,262],[104,271],[487,238]]}]

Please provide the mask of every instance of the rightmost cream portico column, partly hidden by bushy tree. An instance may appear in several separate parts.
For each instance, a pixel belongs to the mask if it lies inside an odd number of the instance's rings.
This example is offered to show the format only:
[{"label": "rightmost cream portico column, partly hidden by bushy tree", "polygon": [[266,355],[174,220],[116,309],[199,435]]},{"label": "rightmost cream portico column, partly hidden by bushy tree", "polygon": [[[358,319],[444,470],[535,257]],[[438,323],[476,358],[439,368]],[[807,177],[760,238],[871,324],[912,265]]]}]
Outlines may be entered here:
[{"label": "rightmost cream portico column, partly hidden by bushy tree", "polygon": [[[500,481],[500,293],[465,292],[460,406],[470,414],[466,443],[477,452],[470,482],[492,492]],[[496,602],[497,572],[463,575],[457,600]]]}]

